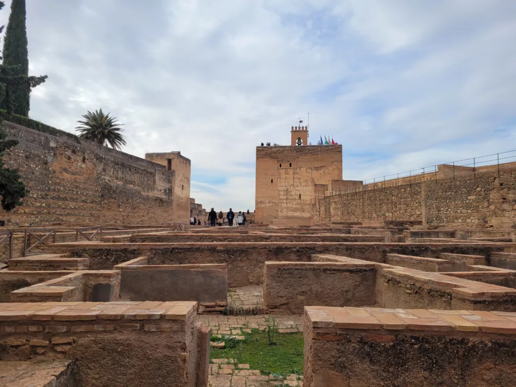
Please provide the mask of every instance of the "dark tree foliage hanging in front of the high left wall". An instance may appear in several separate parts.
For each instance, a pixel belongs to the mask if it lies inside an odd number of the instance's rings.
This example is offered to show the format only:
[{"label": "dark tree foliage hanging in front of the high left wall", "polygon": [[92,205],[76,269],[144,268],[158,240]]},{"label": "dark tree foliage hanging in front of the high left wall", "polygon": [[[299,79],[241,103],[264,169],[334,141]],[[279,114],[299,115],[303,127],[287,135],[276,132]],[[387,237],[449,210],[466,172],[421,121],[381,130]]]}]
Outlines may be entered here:
[{"label": "dark tree foliage hanging in front of the high left wall", "polygon": [[0,122],[0,196],[2,197],[2,208],[11,211],[14,207],[22,205],[21,198],[25,198],[29,191],[20,181],[21,176],[18,169],[7,168],[4,166],[3,156],[6,150],[18,144],[16,140],[6,140]]}]

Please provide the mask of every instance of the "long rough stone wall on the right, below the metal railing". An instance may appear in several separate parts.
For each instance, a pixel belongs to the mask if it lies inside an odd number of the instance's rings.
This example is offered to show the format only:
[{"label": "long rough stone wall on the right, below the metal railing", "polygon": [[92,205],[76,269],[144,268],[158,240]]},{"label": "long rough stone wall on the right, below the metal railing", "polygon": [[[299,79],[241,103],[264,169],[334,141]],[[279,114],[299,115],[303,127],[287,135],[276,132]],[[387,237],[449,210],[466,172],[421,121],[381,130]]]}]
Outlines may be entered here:
[{"label": "long rough stone wall on the right, below the metal railing", "polygon": [[313,205],[314,223],[423,220],[428,225],[511,229],[516,224],[512,164],[456,179],[439,179],[326,196]]}]

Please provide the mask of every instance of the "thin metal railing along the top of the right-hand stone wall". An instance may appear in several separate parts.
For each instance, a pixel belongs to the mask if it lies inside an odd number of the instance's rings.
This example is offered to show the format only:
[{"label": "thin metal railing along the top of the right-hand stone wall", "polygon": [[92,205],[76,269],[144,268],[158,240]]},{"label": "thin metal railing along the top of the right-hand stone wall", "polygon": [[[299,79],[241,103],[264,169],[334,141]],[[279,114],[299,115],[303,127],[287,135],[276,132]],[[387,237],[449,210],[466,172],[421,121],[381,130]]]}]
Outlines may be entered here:
[{"label": "thin metal railing along the top of the right-hand stone wall", "polygon": [[[455,180],[456,178],[464,177],[476,179],[478,173],[487,171],[496,172],[499,176],[500,168],[504,168],[505,163],[511,162],[516,162],[516,150],[435,164],[409,171],[386,174],[363,181],[349,181],[346,183],[346,186],[332,187],[331,192],[328,192],[326,195],[349,195],[385,187],[397,187],[407,184],[410,186],[413,183],[424,181],[435,181],[437,183],[443,179]],[[513,167],[516,168],[516,164]],[[322,198],[322,195],[320,198]]]}]

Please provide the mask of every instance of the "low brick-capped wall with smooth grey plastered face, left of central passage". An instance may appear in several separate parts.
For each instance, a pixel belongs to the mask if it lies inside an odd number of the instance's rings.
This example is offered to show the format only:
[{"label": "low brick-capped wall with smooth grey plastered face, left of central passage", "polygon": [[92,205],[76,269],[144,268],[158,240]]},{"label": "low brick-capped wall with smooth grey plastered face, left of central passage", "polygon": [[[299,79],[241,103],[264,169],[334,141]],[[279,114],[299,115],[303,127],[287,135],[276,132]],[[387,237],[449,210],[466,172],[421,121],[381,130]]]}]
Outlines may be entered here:
[{"label": "low brick-capped wall with smooth grey plastered face, left of central passage", "polygon": [[143,257],[115,266],[120,296],[132,301],[198,301],[219,308],[228,301],[227,265],[147,265]]}]

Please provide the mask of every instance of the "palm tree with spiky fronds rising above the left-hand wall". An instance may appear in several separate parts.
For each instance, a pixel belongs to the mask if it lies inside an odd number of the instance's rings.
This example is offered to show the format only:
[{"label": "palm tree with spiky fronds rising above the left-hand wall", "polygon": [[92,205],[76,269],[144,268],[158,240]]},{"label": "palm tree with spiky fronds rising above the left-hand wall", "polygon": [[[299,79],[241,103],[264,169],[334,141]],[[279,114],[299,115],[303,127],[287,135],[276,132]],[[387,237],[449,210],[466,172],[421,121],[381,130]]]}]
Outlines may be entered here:
[{"label": "palm tree with spiky fronds rising above the left-hand wall", "polygon": [[104,145],[107,143],[113,149],[121,150],[125,146],[124,136],[120,133],[124,130],[119,126],[123,125],[117,121],[117,118],[104,114],[102,109],[95,110],[94,113],[88,111],[83,116],[84,121],[77,121],[80,126],[76,126],[75,130],[80,132],[79,137],[86,140]]}]

